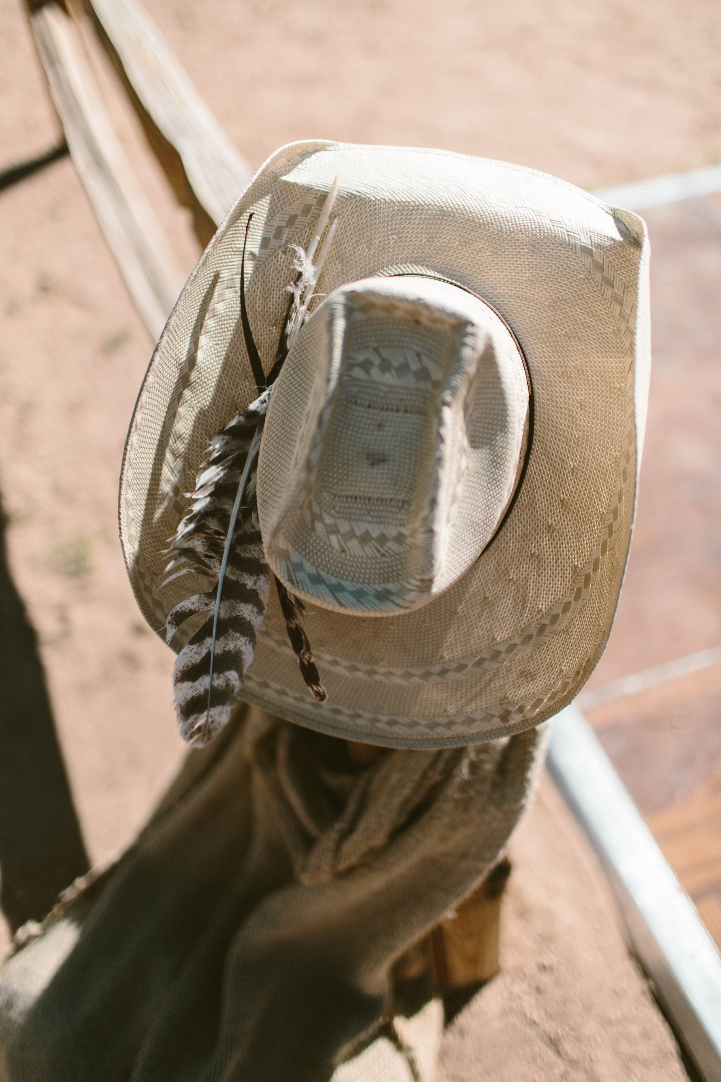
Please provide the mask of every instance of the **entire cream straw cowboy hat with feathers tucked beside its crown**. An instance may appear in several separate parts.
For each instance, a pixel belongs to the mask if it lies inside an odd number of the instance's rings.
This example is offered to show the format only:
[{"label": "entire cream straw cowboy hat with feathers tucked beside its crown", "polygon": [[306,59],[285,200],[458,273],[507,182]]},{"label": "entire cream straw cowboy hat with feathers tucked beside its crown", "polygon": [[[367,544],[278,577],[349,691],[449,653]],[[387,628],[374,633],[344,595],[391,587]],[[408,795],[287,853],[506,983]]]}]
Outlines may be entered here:
[{"label": "entire cream straw cowboy hat with feathers tucked beside its crown", "polygon": [[577,695],[631,537],[647,256],[635,214],[503,162],[330,142],[266,162],[168,321],[122,470],[187,738],[238,696],[455,747]]}]

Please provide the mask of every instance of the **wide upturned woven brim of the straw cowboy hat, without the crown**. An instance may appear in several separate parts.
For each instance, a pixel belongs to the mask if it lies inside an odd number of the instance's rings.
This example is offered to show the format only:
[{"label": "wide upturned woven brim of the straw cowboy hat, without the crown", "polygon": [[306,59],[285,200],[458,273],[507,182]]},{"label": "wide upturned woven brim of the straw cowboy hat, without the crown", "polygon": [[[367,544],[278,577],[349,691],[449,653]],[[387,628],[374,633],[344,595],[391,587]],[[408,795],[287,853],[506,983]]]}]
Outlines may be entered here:
[{"label": "wide upturned woven brim of the straw cowboy hat, without the crown", "polygon": [[242,695],[310,728],[390,747],[518,733],[574,698],[607,639],[650,369],[642,221],[553,177],[437,150],[313,142],[273,155],[196,267],[138,396],[120,492],[135,596],[162,633],[173,606],[209,585],[186,576],[163,588],[163,550],[209,439],[255,397],[239,319],[248,214],[249,315],[267,371],[294,278],[290,246],[308,241],[336,175],[338,228],[320,289],[419,274],[486,301],[528,364],[530,449],[503,528],[444,593],[400,616],[307,617],[326,702],[304,687],[275,598]]}]

